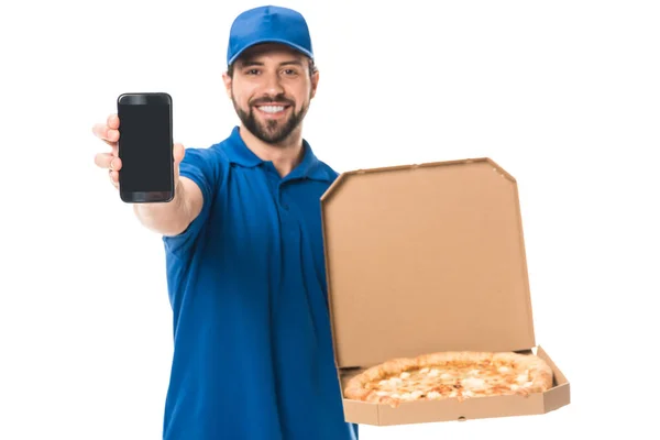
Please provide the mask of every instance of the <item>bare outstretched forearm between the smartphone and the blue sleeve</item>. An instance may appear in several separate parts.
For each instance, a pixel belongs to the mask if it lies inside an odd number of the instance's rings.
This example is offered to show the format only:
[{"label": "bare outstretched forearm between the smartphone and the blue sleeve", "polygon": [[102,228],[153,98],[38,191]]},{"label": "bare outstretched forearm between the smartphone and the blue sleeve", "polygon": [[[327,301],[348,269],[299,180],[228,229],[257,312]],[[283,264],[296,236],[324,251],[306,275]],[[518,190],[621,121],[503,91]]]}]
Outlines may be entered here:
[{"label": "bare outstretched forearm between the smartphone and the blue sleeve", "polygon": [[135,204],[133,210],[147,229],[164,235],[176,235],[190,223],[186,187],[177,180],[174,198],[166,204]]}]

